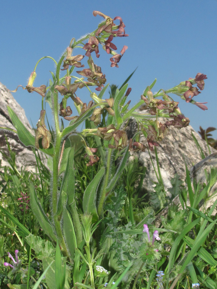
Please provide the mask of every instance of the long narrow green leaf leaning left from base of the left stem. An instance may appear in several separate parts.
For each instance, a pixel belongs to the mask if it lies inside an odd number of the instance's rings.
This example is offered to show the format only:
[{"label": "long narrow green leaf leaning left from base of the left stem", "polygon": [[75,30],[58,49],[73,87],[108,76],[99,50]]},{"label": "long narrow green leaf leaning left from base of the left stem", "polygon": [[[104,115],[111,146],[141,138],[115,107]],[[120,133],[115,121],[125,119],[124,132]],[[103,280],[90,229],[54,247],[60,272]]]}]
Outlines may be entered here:
[{"label": "long narrow green leaf leaning left from base of the left stem", "polygon": [[49,219],[47,218],[47,215],[43,211],[38,198],[36,196],[35,188],[30,181],[30,205],[32,208],[32,212],[38,219],[38,222],[41,226],[41,228],[45,231],[45,233],[54,241],[56,241],[56,236],[54,235],[54,227],[51,225]]}]

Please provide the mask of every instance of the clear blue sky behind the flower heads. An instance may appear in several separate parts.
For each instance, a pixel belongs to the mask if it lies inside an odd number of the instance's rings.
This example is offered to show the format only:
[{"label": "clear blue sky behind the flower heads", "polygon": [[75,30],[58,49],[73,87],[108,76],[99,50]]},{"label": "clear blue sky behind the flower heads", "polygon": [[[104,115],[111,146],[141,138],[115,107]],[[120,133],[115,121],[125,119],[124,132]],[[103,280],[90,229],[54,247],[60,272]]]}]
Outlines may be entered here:
[{"label": "clear blue sky behind the flower heads", "polygon": [[[94,57],[95,63],[106,74],[107,82],[120,86],[138,66],[129,81],[132,88],[129,99],[136,103],[155,77],[157,83],[153,92],[172,88],[189,77],[194,78],[198,72],[204,73],[208,77],[205,88],[193,99],[208,102],[207,111],[185,103],[178,96],[174,96],[174,100],[180,102],[181,112],[190,118],[190,125],[196,131],[200,125],[204,129],[209,126],[217,128],[216,0],[2,1],[0,81],[11,90],[19,84],[26,86],[38,59],[49,55],[58,60],[71,38],[78,39],[97,28],[103,18],[94,17],[93,10],[111,18],[122,17],[125,31],[129,34],[129,37],[117,37],[113,41],[117,53],[124,45],[128,46],[119,68],[110,67],[110,57],[102,47],[100,58],[96,60]],[[74,52],[76,54],[84,53],[78,50]],[[55,71],[52,60],[40,62],[34,86],[47,84],[51,78],[49,71]],[[84,89],[81,92],[82,95],[78,96],[83,102],[89,102],[89,93]],[[13,96],[25,109],[30,123],[36,125],[41,96],[22,88]],[[213,136],[217,138],[217,131]]]}]

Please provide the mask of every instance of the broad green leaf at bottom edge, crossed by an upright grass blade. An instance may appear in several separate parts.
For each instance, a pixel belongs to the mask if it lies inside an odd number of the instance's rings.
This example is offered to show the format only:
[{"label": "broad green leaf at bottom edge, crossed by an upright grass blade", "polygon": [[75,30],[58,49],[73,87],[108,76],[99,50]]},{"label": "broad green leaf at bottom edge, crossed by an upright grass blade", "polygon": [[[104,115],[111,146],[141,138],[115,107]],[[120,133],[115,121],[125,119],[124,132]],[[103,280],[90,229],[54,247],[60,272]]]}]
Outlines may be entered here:
[{"label": "broad green leaf at bottom edge, crossed by an upright grass blade", "polygon": [[[46,257],[46,258],[43,258],[42,264],[43,264],[44,270],[46,270],[49,267],[47,270],[47,274],[46,274],[47,286],[52,289],[58,289],[56,285],[56,280],[55,280],[55,268],[56,268],[55,261],[49,257]],[[65,266],[62,266],[62,272],[64,270],[64,267]],[[70,278],[70,275],[71,275],[71,271],[69,270],[69,268],[66,267],[65,285],[64,285],[65,289],[70,288],[70,284],[68,281]]]}]

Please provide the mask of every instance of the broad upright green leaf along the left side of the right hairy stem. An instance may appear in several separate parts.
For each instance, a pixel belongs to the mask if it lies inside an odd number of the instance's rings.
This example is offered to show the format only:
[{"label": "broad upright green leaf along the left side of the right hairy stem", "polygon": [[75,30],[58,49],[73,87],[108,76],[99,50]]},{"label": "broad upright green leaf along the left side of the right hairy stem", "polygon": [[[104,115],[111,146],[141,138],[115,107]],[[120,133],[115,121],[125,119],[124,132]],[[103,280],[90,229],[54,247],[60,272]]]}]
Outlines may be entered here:
[{"label": "broad upright green leaf along the left side of the right hairy stem", "polygon": [[94,222],[98,221],[98,214],[96,210],[96,194],[97,194],[97,187],[100,183],[100,180],[104,174],[105,168],[102,167],[101,170],[95,175],[93,180],[87,186],[86,190],[84,191],[83,197],[83,211],[84,213],[87,212],[88,214],[93,214]]}]

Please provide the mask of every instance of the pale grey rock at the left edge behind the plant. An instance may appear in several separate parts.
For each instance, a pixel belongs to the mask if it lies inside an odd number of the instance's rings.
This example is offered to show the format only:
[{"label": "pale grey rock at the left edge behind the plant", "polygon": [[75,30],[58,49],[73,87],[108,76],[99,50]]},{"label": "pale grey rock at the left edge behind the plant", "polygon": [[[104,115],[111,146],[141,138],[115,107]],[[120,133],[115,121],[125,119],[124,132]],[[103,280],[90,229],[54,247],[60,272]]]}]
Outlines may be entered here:
[{"label": "pale grey rock at the left edge behind the plant", "polygon": [[[24,109],[19,105],[19,103],[17,103],[17,101],[14,99],[10,91],[8,91],[8,89],[0,82],[0,126],[4,125],[15,129],[12,124],[12,121],[10,120],[7,105],[10,106],[10,108],[12,108],[12,110],[17,114],[19,119],[22,121],[25,127],[31,132],[31,134],[35,135],[34,129],[32,129],[29,121],[27,120]],[[8,144],[10,145],[11,150],[16,153],[16,166],[18,171],[21,171],[21,168],[22,169],[25,168],[28,171],[35,172],[36,160],[31,147],[25,147],[16,134],[13,134],[12,132],[9,131],[5,131],[3,129],[0,130],[1,166],[9,166],[4,156],[4,154],[7,156],[10,155],[5,136],[7,137]]]}]

